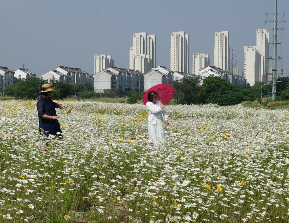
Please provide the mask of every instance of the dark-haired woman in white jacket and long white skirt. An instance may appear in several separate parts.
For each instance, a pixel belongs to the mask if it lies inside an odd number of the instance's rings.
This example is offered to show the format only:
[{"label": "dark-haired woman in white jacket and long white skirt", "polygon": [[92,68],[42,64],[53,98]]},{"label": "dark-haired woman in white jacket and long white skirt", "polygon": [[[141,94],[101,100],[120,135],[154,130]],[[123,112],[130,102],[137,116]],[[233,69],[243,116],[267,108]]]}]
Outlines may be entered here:
[{"label": "dark-haired woman in white jacket and long white skirt", "polygon": [[157,93],[150,91],[148,93],[148,102],[146,103],[148,109],[148,134],[150,138],[157,142],[158,140],[165,140],[165,129],[163,128],[163,122],[166,125],[168,122],[168,115],[165,111],[165,106],[161,101],[157,100]]}]

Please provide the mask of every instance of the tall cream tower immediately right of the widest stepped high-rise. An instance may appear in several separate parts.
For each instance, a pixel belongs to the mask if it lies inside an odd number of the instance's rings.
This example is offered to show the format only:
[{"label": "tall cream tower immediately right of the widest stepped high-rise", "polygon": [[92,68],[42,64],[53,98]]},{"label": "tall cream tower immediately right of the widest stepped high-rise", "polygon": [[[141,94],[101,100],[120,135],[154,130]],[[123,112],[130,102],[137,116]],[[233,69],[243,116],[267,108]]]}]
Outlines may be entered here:
[{"label": "tall cream tower immediately right of the widest stepped high-rise", "polygon": [[172,32],[170,59],[172,71],[189,73],[189,41],[186,32]]}]

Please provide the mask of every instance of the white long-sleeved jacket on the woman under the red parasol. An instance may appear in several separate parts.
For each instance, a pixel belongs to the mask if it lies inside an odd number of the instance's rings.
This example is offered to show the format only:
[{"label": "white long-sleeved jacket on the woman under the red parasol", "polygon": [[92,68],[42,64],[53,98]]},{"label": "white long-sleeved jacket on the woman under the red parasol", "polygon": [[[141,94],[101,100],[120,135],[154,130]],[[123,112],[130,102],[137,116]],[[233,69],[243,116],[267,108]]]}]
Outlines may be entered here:
[{"label": "white long-sleeved jacket on the woman under the red parasol", "polygon": [[165,120],[168,120],[168,115],[165,109],[161,109],[160,101],[156,101],[156,104],[148,101],[146,103],[146,108],[148,109],[148,123],[156,124],[159,117],[161,117],[163,122],[165,122]]}]

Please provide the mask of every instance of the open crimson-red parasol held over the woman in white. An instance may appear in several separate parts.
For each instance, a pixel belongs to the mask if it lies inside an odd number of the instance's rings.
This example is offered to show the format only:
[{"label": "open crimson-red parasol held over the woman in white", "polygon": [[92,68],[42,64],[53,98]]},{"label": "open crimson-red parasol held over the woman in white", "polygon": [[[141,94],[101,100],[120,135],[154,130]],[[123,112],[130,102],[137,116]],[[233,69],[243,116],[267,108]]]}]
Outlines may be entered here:
[{"label": "open crimson-red parasol held over the woman in white", "polygon": [[172,86],[169,84],[157,84],[148,89],[143,95],[143,104],[146,105],[148,102],[148,93],[152,90],[157,92],[157,100],[161,101],[163,104],[167,104],[170,99],[172,99],[172,96],[174,96],[174,88],[172,88]]}]

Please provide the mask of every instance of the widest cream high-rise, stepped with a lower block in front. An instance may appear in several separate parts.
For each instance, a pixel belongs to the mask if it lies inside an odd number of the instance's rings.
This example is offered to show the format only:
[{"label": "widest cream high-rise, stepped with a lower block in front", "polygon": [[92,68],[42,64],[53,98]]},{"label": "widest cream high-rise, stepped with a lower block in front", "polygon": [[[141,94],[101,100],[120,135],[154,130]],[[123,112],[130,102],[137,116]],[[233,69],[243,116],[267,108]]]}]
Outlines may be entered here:
[{"label": "widest cream high-rise, stepped with a lower block in front", "polygon": [[132,35],[130,47],[130,69],[147,73],[156,66],[156,35],[146,32]]}]

